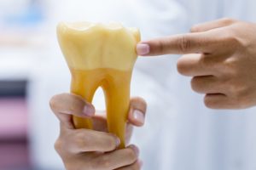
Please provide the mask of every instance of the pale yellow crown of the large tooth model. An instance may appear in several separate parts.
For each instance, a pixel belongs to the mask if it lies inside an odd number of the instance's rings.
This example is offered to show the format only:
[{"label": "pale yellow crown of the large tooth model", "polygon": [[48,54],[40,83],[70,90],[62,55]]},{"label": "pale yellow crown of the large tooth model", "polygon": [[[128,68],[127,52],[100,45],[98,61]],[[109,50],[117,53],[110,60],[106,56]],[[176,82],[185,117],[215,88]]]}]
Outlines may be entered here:
[{"label": "pale yellow crown of the large tooth model", "polygon": [[140,41],[140,33],[136,28],[127,29],[115,23],[61,23],[57,34],[70,68],[128,71],[137,59],[136,44]]}]

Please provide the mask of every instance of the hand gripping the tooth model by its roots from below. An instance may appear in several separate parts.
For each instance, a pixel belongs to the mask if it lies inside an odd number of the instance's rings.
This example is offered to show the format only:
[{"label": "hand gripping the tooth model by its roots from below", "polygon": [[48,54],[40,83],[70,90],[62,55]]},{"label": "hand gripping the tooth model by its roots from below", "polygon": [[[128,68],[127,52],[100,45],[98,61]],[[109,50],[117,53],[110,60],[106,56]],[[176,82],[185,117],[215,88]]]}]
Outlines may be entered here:
[{"label": "hand gripping the tooth model by its roots from below", "polygon": [[[132,133],[132,125],[143,126],[143,119],[138,120],[135,112],[143,116],[146,103],[143,99],[132,98],[127,118],[126,143]],[[61,127],[60,136],[55,142],[55,150],[61,156],[67,170],[125,170],[140,169],[139,150],[135,145],[118,149],[120,139],[108,133],[107,120],[104,116],[94,115],[94,106],[75,94],[58,94],[50,99],[50,107],[58,117]],[[84,107],[87,108],[84,111]],[[92,129],[76,129],[72,116],[90,117]]]}]

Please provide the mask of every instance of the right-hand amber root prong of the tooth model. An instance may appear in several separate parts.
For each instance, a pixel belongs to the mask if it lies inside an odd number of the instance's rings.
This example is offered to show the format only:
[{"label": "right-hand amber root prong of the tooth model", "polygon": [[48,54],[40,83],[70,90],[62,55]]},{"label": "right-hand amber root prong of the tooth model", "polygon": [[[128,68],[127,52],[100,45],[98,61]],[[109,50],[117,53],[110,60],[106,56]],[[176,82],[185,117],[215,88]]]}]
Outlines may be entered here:
[{"label": "right-hand amber root prong of the tooth model", "polygon": [[130,105],[131,71],[110,70],[102,88],[105,92],[108,113],[108,131],[121,140],[125,147],[125,127]]}]

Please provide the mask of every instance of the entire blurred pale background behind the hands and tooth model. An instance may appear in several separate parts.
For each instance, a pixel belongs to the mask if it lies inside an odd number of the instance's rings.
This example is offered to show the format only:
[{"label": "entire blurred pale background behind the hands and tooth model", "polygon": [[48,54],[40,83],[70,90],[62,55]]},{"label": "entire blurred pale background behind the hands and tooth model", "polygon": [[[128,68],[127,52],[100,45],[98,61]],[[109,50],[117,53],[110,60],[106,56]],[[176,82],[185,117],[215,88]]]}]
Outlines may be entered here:
[{"label": "entire blurred pale background behind the hands and tooth model", "polygon": [[[0,169],[61,170],[53,148],[54,94],[69,91],[70,74],[55,36],[59,21],[118,21],[143,39],[189,31],[208,20],[255,21],[253,0],[0,0]],[[136,129],[146,170],[256,169],[256,111],[211,111],[176,71],[178,56],[138,59],[132,95],[148,101]],[[94,104],[104,109],[102,92]]]}]

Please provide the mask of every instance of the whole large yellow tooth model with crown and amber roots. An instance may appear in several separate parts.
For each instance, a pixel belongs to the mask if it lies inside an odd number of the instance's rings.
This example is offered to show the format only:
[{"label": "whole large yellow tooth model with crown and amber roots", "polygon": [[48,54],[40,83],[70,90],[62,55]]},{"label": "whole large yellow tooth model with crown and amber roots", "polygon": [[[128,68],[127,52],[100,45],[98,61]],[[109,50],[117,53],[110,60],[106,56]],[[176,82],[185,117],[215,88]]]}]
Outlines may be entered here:
[{"label": "whole large yellow tooth model with crown and amber roots", "polygon": [[[108,25],[61,23],[57,27],[59,43],[72,74],[71,92],[91,102],[102,87],[107,107],[108,131],[125,147],[125,125],[130,105],[130,83],[137,60],[136,28]],[[90,119],[73,116],[76,128],[92,128]]]}]

